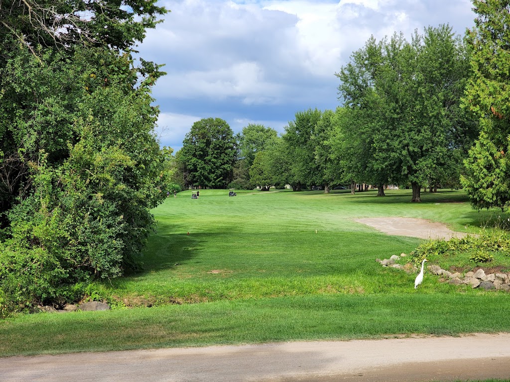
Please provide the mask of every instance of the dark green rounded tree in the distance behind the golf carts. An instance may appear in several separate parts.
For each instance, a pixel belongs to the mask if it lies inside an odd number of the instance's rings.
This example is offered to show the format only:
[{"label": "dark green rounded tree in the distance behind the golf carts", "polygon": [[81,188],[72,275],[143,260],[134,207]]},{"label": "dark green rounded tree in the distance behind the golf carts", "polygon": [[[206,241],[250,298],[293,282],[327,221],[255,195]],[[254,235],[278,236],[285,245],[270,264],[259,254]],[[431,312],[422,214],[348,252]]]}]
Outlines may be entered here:
[{"label": "dark green rounded tree in the distance behind the golf carts", "polygon": [[197,121],[186,134],[179,160],[191,184],[225,188],[233,177],[236,147],[234,132],[221,118]]}]

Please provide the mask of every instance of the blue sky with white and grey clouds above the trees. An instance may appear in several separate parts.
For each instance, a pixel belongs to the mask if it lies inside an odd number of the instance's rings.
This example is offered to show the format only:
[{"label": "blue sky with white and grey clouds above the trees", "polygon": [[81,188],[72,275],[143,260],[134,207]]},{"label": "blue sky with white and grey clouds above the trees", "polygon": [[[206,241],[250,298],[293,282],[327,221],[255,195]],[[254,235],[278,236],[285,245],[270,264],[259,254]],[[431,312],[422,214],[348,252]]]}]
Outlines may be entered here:
[{"label": "blue sky with white and grey clouds above the trees", "polygon": [[428,25],[464,34],[470,0],[161,0],[171,13],[139,45],[166,64],[155,89],[161,144],[175,150],[201,118],[234,132],[262,123],[279,132],[308,108],[338,105],[335,73],[363,47]]}]

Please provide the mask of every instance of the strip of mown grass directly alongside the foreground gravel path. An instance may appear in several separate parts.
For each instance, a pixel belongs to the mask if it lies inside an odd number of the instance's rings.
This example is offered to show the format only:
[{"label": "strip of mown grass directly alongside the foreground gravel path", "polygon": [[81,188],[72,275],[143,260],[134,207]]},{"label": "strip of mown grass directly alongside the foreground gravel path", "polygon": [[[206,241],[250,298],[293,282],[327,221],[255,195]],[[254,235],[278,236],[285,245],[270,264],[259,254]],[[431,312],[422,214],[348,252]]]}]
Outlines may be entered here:
[{"label": "strip of mown grass directly alongside the foreground gravel path", "polygon": [[495,333],[510,328],[510,315],[494,314],[509,304],[509,295],[494,294],[336,295],[39,314],[0,323],[0,356]]}]

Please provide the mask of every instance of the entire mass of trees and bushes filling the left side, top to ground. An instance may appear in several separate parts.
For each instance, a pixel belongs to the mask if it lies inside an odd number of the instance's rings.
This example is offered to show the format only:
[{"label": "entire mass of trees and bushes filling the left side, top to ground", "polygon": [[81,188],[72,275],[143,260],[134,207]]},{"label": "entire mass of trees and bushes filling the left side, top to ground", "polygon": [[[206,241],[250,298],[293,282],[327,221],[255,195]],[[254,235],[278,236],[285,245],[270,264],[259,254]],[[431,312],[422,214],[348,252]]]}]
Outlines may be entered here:
[{"label": "entire mass of trees and bushes filling the left side, top to ground", "polygon": [[156,1],[0,3],[0,314],[139,266],[165,196],[150,89],[130,50]]}]

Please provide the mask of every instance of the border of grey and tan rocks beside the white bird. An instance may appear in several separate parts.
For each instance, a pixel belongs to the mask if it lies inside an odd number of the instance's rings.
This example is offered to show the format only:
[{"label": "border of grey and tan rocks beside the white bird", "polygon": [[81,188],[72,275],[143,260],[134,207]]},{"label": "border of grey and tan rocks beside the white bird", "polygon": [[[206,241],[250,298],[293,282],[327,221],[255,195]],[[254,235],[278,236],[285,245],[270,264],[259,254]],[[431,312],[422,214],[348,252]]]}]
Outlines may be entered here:
[{"label": "border of grey and tan rocks beside the white bird", "polygon": [[[411,262],[406,263],[405,265],[397,264],[396,261],[400,260],[400,258],[407,256],[405,253],[398,255],[393,255],[389,259],[375,259],[379,264],[384,267],[391,267],[395,269],[402,269],[408,274],[415,273],[418,271],[418,268]],[[439,265],[428,265],[427,270],[436,276],[442,276],[445,279],[448,279],[448,283],[452,285],[471,285],[471,288],[483,288],[485,290],[504,290],[505,292],[510,292],[510,274],[497,273],[497,274],[489,274],[486,275],[483,269],[478,269],[476,272],[466,272],[465,275],[460,274],[459,272],[451,273],[448,270],[442,269]]]}]

